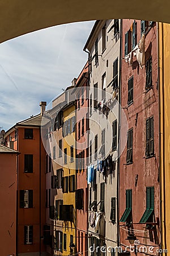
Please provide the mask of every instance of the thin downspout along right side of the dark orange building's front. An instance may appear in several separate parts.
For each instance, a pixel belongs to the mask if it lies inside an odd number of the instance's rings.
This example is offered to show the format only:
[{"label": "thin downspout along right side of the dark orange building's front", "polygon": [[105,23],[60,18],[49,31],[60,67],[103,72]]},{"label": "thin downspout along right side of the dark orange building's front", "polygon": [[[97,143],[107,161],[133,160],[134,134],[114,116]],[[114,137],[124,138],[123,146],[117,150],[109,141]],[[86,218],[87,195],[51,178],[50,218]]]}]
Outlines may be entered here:
[{"label": "thin downspout along right side of the dark orange building's front", "polygon": [[39,221],[40,221],[40,226],[39,226],[39,243],[40,243],[40,253],[39,255],[41,256],[41,126],[39,127],[39,143],[40,143],[40,187],[39,187],[39,193],[40,193],[40,209],[39,209]]}]

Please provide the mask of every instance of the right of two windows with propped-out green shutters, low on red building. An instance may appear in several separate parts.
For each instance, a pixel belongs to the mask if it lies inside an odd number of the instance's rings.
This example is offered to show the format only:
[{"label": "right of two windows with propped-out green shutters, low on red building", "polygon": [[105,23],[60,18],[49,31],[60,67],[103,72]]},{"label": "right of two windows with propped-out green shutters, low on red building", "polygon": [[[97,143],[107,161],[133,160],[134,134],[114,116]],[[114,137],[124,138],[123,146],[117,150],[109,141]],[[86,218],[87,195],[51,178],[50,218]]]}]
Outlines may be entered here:
[{"label": "right of two windows with propped-out green shutters, low on red building", "polygon": [[146,188],[146,210],[143,213],[143,216],[140,223],[153,222],[154,214],[154,187]]}]

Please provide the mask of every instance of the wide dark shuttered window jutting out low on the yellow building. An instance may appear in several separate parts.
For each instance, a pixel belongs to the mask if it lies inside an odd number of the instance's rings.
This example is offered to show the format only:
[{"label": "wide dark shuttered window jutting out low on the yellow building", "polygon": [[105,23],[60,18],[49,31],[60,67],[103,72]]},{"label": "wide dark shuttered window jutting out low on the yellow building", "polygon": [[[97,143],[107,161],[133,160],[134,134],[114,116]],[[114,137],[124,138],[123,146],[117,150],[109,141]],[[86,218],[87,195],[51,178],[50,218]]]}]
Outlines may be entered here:
[{"label": "wide dark shuttered window jutting out low on the yellow building", "polygon": [[73,204],[59,206],[59,220],[73,221]]}]

